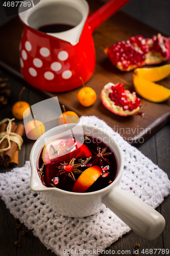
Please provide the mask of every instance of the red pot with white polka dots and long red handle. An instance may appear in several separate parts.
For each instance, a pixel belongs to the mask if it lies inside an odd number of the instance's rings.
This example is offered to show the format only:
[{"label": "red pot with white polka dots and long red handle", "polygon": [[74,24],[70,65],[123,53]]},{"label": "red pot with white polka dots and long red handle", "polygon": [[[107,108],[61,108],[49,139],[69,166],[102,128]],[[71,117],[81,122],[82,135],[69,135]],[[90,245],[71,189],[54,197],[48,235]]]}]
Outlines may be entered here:
[{"label": "red pot with white polka dots and long red handle", "polygon": [[[89,7],[85,0],[41,0],[27,11],[19,9],[25,25],[19,46],[23,77],[33,87],[50,92],[76,89],[82,85],[80,77],[88,81],[95,69],[92,32],[120,8],[114,2],[110,0],[109,5],[100,8],[102,19],[99,10],[87,19]],[[68,25],[69,29],[41,30],[54,25],[60,25],[60,29]]]}]

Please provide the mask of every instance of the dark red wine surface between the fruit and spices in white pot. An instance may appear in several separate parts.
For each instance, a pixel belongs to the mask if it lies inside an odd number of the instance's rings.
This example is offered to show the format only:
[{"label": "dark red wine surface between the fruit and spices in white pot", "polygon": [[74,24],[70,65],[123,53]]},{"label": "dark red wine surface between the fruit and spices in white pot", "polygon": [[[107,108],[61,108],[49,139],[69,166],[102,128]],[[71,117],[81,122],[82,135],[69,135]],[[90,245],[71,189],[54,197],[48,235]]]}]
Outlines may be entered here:
[{"label": "dark red wine surface between the fruit and spices in white pot", "polygon": [[[90,137],[88,136],[89,140],[84,141],[84,145],[86,145],[88,147],[88,149],[91,151],[92,154],[92,158],[89,160],[88,163],[93,162],[94,159],[96,159],[96,154],[98,153],[97,151],[97,147],[99,146],[101,148],[101,151],[103,150],[103,148],[107,147],[107,145],[104,142],[100,142],[100,143],[96,143],[96,138],[94,137]],[[42,149],[43,151],[43,149]],[[94,153],[95,152],[95,153]],[[105,160],[102,159],[103,164],[101,164],[100,160],[98,161],[98,163],[95,163],[93,165],[98,165],[101,167],[102,166],[107,166],[109,165],[109,175],[107,177],[102,177],[102,175],[85,191],[85,193],[88,192],[92,192],[92,191],[96,191],[96,190],[100,190],[108,185],[110,185],[110,183],[112,181],[114,181],[114,179],[117,176],[117,172],[118,172],[118,165],[117,165],[117,160],[116,157],[114,155],[114,153],[110,150],[109,146],[107,147],[107,151],[106,153],[112,153],[110,155],[104,156],[104,158],[106,158],[110,164],[108,164]],[[68,159],[68,158],[67,158]],[[83,160],[86,160],[87,157],[82,157]],[[71,159],[70,159],[71,160]],[[61,162],[63,163],[63,162]],[[43,168],[43,175],[44,175],[44,181],[45,181],[45,185],[47,187],[52,187],[52,185],[50,183],[53,183],[52,179],[54,177],[57,177],[57,174],[59,172],[59,165],[61,163],[53,163],[53,164],[47,164],[44,165]],[[77,159],[75,157],[75,164],[80,163],[80,157],[79,159]],[[40,154],[40,157],[38,159],[38,166],[39,168],[41,168],[43,164],[43,160],[42,160],[42,152]],[[68,164],[68,161],[67,161]],[[87,166],[83,166],[83,167],[78,167],[79,170],[81,170],[82,172],[87,169]],[[38,170],[39,171],[39,170]],[[80,176],[80,174],[74,174],[75,179],[77,180],[78,177]],[[71,191],[72,187],[75,184],[75,181],[72,180],[68,175],[62,174],[59,175],[59,183],[56,185],[57,188],[63,189],[63,190],[67,190],[67,191]],[[50,180],[50,183],[49,183]]]}]

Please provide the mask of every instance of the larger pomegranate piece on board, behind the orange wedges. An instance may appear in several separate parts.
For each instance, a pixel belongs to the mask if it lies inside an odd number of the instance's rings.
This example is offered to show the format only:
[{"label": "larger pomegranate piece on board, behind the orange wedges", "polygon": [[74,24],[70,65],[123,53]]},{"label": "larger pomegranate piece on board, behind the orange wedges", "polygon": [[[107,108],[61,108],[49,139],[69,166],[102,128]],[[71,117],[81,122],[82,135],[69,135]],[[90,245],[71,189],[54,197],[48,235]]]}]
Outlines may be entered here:
[{"label": "larger pomegranate piece on board, behind the orange wedges", "polygon": [[121,71],[130,71],[144,65],[155,65],[170,57],[169,38],[153,35],[144,38],[137,35],[127,41],[117,42],[105,49],[110,61]]}]

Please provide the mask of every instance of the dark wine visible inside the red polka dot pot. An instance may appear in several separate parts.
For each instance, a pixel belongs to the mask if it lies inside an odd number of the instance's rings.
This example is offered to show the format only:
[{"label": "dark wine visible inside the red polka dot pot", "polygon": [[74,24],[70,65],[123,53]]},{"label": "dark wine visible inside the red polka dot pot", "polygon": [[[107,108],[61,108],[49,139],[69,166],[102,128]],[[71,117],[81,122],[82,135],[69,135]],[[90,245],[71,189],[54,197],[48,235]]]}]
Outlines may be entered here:
[{"label": "dark wine visible inside the red polka dot pot", "polygon": [[41,26],[37,30],[43,33],[59,33],[67,31],[72,28],[74,28],[74,26],[69,24],[49,24]]}]

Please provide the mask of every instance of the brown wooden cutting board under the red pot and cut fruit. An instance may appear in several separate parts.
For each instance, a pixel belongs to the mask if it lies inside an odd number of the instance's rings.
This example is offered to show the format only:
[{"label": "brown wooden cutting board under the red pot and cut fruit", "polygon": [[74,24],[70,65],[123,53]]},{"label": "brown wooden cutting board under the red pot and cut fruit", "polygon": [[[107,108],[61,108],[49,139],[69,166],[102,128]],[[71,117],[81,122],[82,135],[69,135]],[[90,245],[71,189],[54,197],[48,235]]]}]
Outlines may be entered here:
[{"label": "brown wooden cutting board under the red pot and cut fruit", "polygon": [[[100,7],[100,4],[96,3],[97,1],[88,2],[90,13]],[[17,79],[26,83],[20,74],[19,68],[19,41],[22,30],[23,25],[18,18],[0,28],[0,65],[15,75]],[[45,98],[58,96],[60,103],[66,106],[66,110],[75,111],[79,116],[94,115],[103,119],[114,131],[134,145],[142,143],[170,120],[170,99],[162,103],[153,103],[141,98],[141,112],[144,113],[144,117],[140,115],[121,117],[111,113],[101,102],[101,90],[108,82],[123,82],[126,89],[133,91],[133,72],[120,72],[111,64],[103,50],[117,41],[127,40],[137,34],[152,37],[153,34],[158,32],[122,12],[117,12],[93,33],[96,68],[86,86],[93,88],[98,98],[89,108],[83,107],[77,101],[77,93],[80,89],[66,93],[37,91],[43,94]],[[166,63],[170,63],[170,61]],[[170,89],[170,76],[159,83]]]}]

